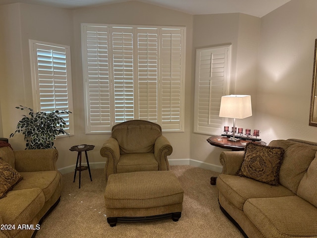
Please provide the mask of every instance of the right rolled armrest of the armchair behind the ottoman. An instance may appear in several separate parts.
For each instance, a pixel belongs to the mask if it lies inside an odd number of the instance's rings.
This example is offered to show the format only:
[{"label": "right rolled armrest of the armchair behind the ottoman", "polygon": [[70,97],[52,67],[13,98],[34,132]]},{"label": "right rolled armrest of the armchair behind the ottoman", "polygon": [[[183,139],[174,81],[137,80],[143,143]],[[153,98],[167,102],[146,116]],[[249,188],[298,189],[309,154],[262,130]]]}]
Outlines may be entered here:
[{"label": "right rolled armrest of the armchair behind the ottoman", "polygon": [[163,135],[159,136],[154,144],[154,156],[159,163],[159,170],[169,170],[167,156],[171,155],[172,152],[173,147],[166,137]]}]

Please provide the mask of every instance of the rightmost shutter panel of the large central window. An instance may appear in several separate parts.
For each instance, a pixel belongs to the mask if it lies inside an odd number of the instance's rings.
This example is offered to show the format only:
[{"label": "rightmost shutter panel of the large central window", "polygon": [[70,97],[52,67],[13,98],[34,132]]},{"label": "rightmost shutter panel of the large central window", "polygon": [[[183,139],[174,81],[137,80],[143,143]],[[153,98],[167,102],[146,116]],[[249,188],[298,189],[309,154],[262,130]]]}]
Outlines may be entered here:
[{"label": "rightmost shutter panel of the large central window", "polygon": [[166,129],[182,130],[184,31],[161,29],[160,36],[161,123]]}]

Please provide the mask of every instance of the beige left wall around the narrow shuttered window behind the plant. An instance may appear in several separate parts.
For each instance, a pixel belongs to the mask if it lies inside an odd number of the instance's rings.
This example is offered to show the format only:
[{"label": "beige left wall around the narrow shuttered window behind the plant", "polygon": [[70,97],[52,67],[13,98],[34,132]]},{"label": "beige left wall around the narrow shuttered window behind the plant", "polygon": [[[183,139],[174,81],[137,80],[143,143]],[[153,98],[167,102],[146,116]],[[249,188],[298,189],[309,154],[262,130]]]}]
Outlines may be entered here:
[{"label": "beige left wall around the narrow shuttered window behind the plant", "polygon": [[[72,47],[73,21],[70,10],[34,4],[3,5],[0,11],[0,16],[3,18],[3,21],[1,20],[3,34],[0,38],[4,42],[0,46],[4,51],[0,102],[3,136],[9,138],[9,135],[15,131],[18,120],[23,114],[28,113],[17,110],[15,107],[23,105],[33,108],[29,39]],[[71,139],[66,137],[56,140],[59,151],[58,168],[71,162],[65,160],[67,157],[63,153],[64,150],[70,148]],[[59,140],[63,141],[61,145],[57,145],[58,142],[60,143]],[[14,150],[25,148],[22,134],[9,138],[9,143]]]}]

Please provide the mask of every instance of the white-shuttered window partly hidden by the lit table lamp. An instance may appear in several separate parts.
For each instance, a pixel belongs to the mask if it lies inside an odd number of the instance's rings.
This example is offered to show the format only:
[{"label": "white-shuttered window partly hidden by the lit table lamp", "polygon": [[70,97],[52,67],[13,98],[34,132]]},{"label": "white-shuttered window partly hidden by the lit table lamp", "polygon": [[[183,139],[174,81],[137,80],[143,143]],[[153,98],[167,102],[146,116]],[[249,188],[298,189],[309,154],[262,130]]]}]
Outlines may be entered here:
[{"label": "white-shuttered window partly hidden by the lit table lamp", "polygon": [[221,96],[228,93],[231,46],[196,51],[194,132],[219,135],[224,118],[219,118]]}]

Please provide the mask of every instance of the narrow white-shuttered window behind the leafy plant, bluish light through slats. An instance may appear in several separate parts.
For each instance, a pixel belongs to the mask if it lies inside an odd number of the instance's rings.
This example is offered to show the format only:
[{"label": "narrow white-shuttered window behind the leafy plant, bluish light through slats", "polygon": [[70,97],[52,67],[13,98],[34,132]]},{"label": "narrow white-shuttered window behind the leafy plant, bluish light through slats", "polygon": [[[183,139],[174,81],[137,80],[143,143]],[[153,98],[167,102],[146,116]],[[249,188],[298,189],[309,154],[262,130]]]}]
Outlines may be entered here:
[{"label": "narrow white-shuttered window behind the leafy plant, bluish light through slats", "polygon": [[[73,112],[70,47],[29,40],[34,110]],[[74,133],[72,114],[61,114],[65,130]]]}]

